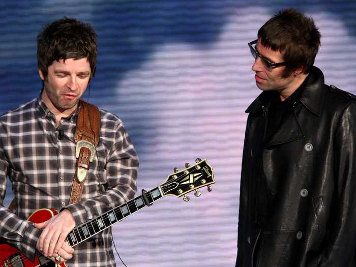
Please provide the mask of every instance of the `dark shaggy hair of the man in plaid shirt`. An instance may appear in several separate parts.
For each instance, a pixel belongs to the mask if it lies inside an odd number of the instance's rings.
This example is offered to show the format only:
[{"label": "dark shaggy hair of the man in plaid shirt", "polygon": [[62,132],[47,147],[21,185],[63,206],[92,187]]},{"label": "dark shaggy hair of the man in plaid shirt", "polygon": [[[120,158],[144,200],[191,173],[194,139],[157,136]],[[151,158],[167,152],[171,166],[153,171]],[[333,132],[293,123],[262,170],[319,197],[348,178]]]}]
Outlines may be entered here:
[{"label": "dark shaggy hair of the man in plaid shirt", "polygon": [[97,35],[90,24],[64,17],[46,25],[37,36],[38,68],[44,77],[54,61],[87,57],[91,78],[95,72],[98,54]]}]

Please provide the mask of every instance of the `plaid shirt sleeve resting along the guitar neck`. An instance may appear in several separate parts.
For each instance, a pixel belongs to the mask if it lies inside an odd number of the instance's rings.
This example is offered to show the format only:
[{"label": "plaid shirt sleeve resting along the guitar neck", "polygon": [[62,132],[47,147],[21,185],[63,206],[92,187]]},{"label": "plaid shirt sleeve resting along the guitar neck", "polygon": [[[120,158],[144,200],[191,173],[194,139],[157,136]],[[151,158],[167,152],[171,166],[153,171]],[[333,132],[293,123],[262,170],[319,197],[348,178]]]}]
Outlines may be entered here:
[{"label": "plaid shirt sleeve resting along the guitar neck", "polygon": [[106,156],[106,190],[98,196],[66,206],[76,225],[95,218],[114,205],[133,198],[137,190],[138,157],[134,146],[120,122]]}]

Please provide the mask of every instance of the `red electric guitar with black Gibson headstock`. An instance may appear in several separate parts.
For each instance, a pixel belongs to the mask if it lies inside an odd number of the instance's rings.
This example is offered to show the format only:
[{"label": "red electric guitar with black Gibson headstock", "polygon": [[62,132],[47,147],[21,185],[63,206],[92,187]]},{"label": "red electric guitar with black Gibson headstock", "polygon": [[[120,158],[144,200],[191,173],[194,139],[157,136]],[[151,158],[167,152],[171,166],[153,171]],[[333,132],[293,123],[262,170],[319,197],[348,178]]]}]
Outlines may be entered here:
[{"label": "red electric guitar with black Gibson headstock", "polygon": [[[214,170],[207,163],[206,159],[196,159],[196,164],[189,166],[186,163],[184,170],[178,171],[174,168],[174,173],[168,175],[166,181],[150,191],[142,190],[142,194],[124,204],[118,205],[108,212],[91,219],[83,224],[75,226],[67,235],[66,242],[74,247],[79,243],[91,238],[93,235],[103,231],[116,222],[123,220],[131,214],[143,209],[145,206],[152,205],[156,200],[165,196],[181,197],[189,201],[187,193],[195,190],[194,195],[200,196],[199,188],[207,186],[210,192],[211,184],[214,184]],[[41,209],[29,216],[28,220],[34,223],[44,222],[55,216],[57,212],[53,209]],[[65,267],[65,263],[56,264],[41,254],[35,256],[31,261],[26,258],[19,250],[8,244],[0,244],[0,266],[1,267]]]}]

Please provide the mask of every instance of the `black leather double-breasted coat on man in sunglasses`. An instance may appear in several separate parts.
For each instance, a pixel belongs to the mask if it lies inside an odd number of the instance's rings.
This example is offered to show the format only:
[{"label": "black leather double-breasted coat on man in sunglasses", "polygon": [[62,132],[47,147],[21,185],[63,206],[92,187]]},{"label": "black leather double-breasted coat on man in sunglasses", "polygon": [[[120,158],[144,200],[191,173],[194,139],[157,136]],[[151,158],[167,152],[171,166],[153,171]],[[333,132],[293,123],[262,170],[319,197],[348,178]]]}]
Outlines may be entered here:
[{"label": "black leather double-breasted coat on man in sunglasses", "polygon": [[236,267],[251,267],[253,258],[258,267],[355,266],[356,98],[325,85],[312,68],[293,112],[263,147],[261,171],[273,208],[258,227],[251,185],[270,105],[261,99],[269,93],[246,110]]}]

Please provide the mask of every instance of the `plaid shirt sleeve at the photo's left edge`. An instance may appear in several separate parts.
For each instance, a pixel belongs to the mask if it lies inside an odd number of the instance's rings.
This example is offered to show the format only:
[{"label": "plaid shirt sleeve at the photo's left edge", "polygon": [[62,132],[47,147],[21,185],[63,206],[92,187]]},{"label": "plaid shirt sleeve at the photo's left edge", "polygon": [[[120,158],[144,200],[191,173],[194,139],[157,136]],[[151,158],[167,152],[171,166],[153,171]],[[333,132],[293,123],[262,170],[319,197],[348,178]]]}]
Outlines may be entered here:
[{"label": "plaid shirt sleeve at the photo's left edge", "polygon": [[[0,131],[0,134],[3,135]],[[23,220],[4,206],[6,193],[6,176],[9,164],[4,153],[0,136],[0,236],[8,245],[20,250],[27,258],[34,260],[37,240],[41,230],[31,222]]]}]

